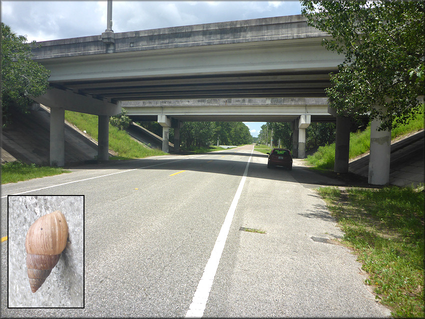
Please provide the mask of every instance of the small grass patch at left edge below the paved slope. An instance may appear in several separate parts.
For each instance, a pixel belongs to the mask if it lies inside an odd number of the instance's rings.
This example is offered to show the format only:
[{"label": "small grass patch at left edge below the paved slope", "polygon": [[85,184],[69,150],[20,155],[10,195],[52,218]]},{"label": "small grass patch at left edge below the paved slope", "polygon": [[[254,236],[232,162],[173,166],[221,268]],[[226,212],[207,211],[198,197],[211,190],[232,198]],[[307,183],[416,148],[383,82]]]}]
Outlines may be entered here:
[{"label": "small grass patch at left edge below the paved slope", "polygon": [[60,167],[25,164],[15,160],[1,165],[1,183],[15,183],[21,180],[52,176],[69,172],[70,170],[66,170]]}]

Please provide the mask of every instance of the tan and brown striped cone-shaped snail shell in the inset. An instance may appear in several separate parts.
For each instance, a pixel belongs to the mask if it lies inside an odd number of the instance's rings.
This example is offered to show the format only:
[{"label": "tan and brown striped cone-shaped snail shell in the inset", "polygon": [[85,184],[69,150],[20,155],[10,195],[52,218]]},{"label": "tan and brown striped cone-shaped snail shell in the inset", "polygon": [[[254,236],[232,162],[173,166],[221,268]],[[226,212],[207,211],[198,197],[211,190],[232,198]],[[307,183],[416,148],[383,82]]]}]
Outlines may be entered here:
[{"label": "tan and brown striped cone-shaped snail shell in the inset", "polygon": [[32,292],[44,282],[66,246],[68,225],[55,210],[34,221],[25,238],[26,268]]}]

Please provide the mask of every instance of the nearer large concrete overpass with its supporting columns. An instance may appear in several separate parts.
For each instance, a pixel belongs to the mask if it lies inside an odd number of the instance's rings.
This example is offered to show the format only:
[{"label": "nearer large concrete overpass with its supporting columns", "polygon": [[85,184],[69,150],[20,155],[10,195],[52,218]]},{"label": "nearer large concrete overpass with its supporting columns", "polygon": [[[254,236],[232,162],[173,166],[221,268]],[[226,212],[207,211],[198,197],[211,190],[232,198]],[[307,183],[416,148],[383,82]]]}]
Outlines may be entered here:
[{"label": "nearer large concrete overpass with its supporting columns", "polygon": [[[98,115],[107,159],[108,118],[121,101],[325,97],[343,59],[320,45],[326,36],[290,15],[37,42],[33,59],[50,69],[51,89],[32,98],[51,108],[50,162],[64,164],[64,109]],[[167,139],[172,116],[158,115]],[[294,129],[309,120],[301,112]],[[347,120],[336,117],[336,171],[348,169]]]}]

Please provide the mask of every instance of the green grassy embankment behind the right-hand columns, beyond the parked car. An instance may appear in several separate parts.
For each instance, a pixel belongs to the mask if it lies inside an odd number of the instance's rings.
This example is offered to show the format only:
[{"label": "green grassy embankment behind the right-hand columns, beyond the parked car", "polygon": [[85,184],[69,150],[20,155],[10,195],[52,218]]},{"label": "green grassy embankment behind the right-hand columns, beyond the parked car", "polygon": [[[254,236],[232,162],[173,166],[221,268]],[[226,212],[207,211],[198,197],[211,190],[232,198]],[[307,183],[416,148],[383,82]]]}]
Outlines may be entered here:
[{"label": "green grassy embankment behind the right-hand columns, beyond the parked car", "polygon": [[[424,116],[422,112],[412,119],[408,124],[395,127],[391,130],[391,139],[412,133],[423,129]],[[368,152],[370,149],[370,125],[364,131],[350,133],[349,139],[349,158],[352,159],[358,155]],[[306,158],[308,164],[319,169],[333,169],[335,162],[335,143],[320,146],[317,151],[308,155]]]}]

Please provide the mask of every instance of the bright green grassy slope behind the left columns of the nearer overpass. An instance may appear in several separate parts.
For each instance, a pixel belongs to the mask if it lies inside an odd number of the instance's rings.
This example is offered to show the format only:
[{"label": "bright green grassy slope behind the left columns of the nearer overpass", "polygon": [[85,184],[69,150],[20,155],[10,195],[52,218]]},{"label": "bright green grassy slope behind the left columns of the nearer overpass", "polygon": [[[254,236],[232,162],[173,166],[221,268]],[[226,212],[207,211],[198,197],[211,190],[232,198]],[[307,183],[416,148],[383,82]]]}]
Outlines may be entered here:
[{"label": "bright green grassy slope behind the left columns of the nearer overpass", "polygon": [[[98,116],[65,110],[65,119],[80,130],[85,130],[88,135],[97,140]],[[143,158],[153,155],[164,155],[159,149],[145,147],[132,139],[124,130],[119,130],[109,124],[109,148],[117,152],[110,159]]]}]

